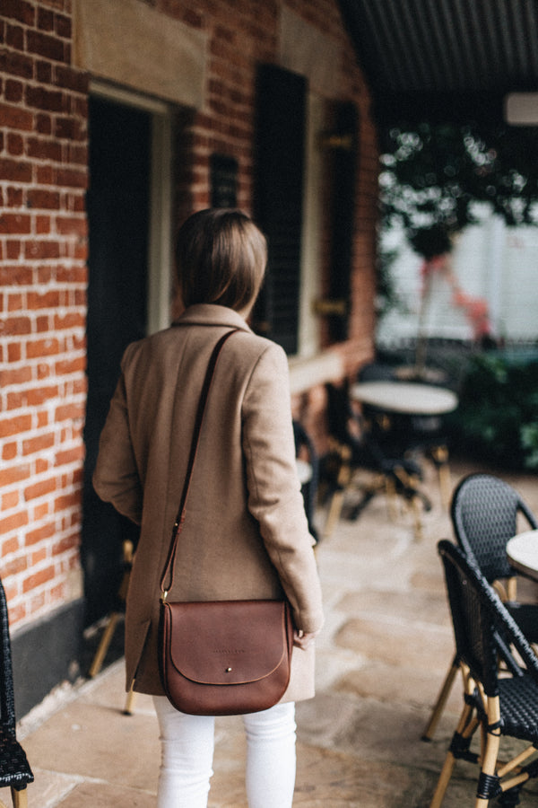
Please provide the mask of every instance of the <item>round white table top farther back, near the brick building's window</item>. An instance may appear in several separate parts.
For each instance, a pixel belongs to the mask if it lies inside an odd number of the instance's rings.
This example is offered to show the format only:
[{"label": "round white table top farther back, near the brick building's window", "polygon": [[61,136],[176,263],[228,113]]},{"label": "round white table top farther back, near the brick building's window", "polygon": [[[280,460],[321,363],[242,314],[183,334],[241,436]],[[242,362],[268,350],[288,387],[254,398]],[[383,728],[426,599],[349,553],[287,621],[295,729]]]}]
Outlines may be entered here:
[{"label": "round white table top farther back, near the brick building's window", "polygon": [[386,412],[441,415],[458,405],[456,393],[446,387],[418,382],[360,382],[351,387],[351,398]]}]

